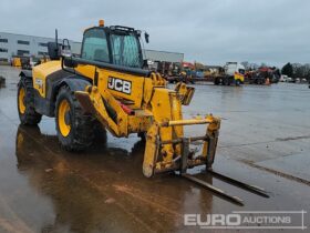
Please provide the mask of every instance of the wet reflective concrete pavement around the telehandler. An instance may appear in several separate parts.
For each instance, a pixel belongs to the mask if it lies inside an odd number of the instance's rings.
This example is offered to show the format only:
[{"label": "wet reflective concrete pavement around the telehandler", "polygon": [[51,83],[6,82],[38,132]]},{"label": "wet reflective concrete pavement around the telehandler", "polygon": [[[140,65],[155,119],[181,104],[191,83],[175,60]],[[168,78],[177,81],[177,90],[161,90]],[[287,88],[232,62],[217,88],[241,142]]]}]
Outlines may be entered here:
[{"label": "wet reflective concrete pavement around the telehandler", "polygon": [[0,75],[7,79],[0,89],[0,232],[199,232],[206,230],[184,225],[184,214],[231,211],[304,210],[309,226],[307,85],[196,85],[184,114],[213,112],[224,119],[214,169],[270,194],[246,192],[205,174],[204,168],[192,171],[244,199],[239,206],[177,175],[144,178],[144,143],[135,135],[107,134],[86,152],[64,152],[53,119],[43,118],[38,128],[19,125],[18,70],[0,67]]}]

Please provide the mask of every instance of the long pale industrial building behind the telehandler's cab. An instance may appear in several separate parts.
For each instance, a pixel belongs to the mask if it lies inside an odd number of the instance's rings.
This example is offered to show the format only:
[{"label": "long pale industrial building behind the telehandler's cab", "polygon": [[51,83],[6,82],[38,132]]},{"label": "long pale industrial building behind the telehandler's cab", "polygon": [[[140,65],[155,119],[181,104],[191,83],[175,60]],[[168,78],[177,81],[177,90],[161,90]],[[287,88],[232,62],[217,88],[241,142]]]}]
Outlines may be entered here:
[{"label": "long pale industrial building behind the telehandler's cab", "polygon": [[[44,57],[48,54],[48,42],[54,42],[54,38],[0,32],[0,61],[10,61],[14,55]],[[59,43],[62,43],[61,39]],[[80,54],[81,42],[70,41],[70,44],[72,53]],[[143,50],[143,57],[154,64],[180,63],[184,60],[183,53],[156,50]]]}]

